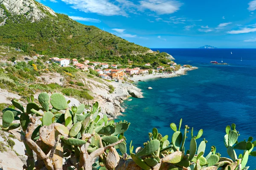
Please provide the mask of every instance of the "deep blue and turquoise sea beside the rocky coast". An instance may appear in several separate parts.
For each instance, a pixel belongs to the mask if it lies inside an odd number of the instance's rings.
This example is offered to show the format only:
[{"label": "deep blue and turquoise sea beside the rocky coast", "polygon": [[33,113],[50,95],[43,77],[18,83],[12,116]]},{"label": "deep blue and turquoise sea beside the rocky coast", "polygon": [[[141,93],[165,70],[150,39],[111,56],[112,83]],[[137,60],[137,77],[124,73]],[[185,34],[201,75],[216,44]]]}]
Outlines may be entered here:
[{"label": "deep blue and turquoise sea beside the rocky coast", "polygon": [[[198,130],[204,133],[197,139],[198,145],[206,139],[208,154],[214,145],[217,153],[229,157],[224,145],[225,127],[236,124],[238,141],[252,136],[256,140],[256,49],[175,49],[157,48],[153,51],[167,52],[180,65],[192,65],[196,70],[173,78],[151,79],[138,82],[144,98],[126,100],[126,108],[119,120],[131,122],[125,137],[127,146],[131,140],[134,148],[148,141],[153,127],[171,141],[172,122],[190,127],[185,149],[189,150],[191,128],[194,136]],[[231,54],[232,52],[232,54]],[[210,61],[228,63],[214,65]],[[242,61],[241,61],[242,60]],[[153,89],[149,90],[148,87]],[[256,147],[255,149],[256,150]],[[243,153],[236,150],[237,156]],[[249,156],[247,166],[256,169],[256,157]]]}]

